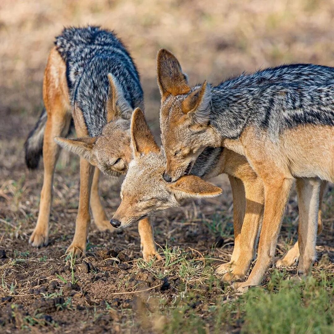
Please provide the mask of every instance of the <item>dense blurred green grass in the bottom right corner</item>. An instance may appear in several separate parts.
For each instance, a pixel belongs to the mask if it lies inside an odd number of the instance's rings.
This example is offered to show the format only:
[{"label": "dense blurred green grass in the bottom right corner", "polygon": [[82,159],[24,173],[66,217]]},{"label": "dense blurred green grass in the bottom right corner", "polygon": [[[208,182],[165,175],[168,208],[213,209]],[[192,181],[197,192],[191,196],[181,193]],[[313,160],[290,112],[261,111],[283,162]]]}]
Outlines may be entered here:
[{"label": "dense blurred green grass in the bottom right corner", "polygon": [[303,282],[276,278],[245,295],[243,333],[333,333],[333,281]]}]

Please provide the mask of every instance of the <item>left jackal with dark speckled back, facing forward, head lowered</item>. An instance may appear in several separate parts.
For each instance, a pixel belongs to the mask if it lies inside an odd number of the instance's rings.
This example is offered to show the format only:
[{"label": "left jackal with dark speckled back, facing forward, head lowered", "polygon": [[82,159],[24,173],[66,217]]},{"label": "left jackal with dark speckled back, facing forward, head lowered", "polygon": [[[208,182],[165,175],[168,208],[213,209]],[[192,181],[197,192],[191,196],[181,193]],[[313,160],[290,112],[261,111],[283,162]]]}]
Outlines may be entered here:
[{"label": "left jackal with dark speckled back, facing forward, head lowered", "polygon": [[[114,229],[100,202],[99,169],[112,177],[126,173],[131,160],[130,117],[134,107],[143,108],[143,91],[136,66],[114,33],[94,26],[65,28],[54,43],[43,80],[45,110],[25,143],[29,168],[37,168],[41,154],[44,161],[38,220],[29,242],[37,247],[48,243],[58,143],[80,156],[78,214],[66,251],[80,255],[86,249],[89,204],[98,228]],[[57,138],[68,134],[72,118],[79,138]],[[147,219],[141,221],[139,232],[144,258],[156,254]]]}]

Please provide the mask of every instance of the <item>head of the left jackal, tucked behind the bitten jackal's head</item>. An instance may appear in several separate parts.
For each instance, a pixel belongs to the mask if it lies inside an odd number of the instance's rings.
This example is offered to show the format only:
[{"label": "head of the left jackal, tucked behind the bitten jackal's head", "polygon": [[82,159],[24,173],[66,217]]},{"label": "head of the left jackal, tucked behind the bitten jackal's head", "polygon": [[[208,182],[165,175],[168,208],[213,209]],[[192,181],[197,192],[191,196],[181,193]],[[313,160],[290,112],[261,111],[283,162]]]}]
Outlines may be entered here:
[{"label": "head of the left jackal, tucked behind the bitten jackal's head", "polygon": [[117,80],[108,74],[109,94],[106,102],[107,124],[97,137],[55,138],[66,150],[88,160],[102,173],[118,177],[125,174],[131,161],[130,117],[132,108],[125,100]]}]

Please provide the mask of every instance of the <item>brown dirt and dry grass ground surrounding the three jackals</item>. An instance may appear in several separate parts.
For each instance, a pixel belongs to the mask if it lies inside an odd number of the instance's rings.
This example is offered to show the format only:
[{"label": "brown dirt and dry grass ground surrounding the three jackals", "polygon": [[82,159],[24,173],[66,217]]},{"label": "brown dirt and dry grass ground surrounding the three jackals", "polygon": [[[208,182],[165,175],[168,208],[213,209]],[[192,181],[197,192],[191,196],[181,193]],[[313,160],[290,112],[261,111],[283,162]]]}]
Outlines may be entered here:
[{"label": "brown dirt and dry grass ground surrounding the three jackals", "polygon": [[[332,1],[275,1],[270,6],[261,0],[2,1],[0,332],[256,332],[249,330],[251,313],[241,305],[248,305],[248,293],[239,296],[214,276],[215,267],[229,261],[233,250],[232,196],[225,176],[212,180],[223,187],[220,197],[187,201],[180,209],[152,217],[163,260],[144,263],[136,226],[120,233],[101,232],[94,221],[86,257],[72,259],[64,252],[74,234],[78,159],[62,152],[54,178],[49,245],[37,249],[28,244],[37,220],[43,172],[42,163],[36,171],[26,169],[23,143],[40,112],[43,69],[53,36],[62,26],[101,24],[122,37],[140,70],[146,115],[158,139],[155,55],[160,47],[179,57],[192,83],[204,79],[217,83],[244,70],[283,62],[333,66],[333,17]],[[121,183],[105,177],[100,182],[110,217],[120,203]],[[329,282],[326,288],[314,289],[326,290],[331,305],[333,199],[329,185],[312,272],[316,282]],[[278,257],[297,240],[297,223],[293,191]],[[272,296],[280,290],[281,279],[294,276],[296,267],[270,269],[258,289]],[[280,280],[273,288],[275,277]],[[330,307],[324,305],[324,312]],[[332,326],[333,319],[326,319]],[[319,328],[318,332],[328,333],[333,329]]]}]

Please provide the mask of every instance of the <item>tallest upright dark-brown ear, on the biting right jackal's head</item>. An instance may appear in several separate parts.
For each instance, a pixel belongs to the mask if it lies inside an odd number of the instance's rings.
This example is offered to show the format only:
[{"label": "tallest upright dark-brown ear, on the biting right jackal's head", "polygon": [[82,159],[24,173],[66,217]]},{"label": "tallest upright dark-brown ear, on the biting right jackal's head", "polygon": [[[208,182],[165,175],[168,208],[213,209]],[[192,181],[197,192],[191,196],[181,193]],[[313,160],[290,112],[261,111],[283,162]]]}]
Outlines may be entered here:
[{"label": "tallest upright dark-brown ear, on the biting right jackal's head", "polygon": [[157,55],[157,77],[162,98],[170,94],[186,94],[190,90],[179,61],[166,49],[160,49]]}]

